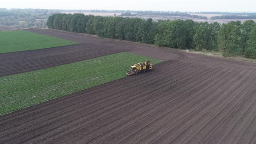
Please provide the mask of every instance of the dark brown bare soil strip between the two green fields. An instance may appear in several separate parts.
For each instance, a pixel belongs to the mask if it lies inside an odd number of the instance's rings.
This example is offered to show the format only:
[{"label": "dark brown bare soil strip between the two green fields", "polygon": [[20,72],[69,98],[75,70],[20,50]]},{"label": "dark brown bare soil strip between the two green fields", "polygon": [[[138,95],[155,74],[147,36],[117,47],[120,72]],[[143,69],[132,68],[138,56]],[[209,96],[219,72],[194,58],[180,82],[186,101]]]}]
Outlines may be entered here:
[{"label": "dark brown bare soil strip between the two green fields", "polygon": [[128,51],[128,49],[107,45],[77,44],[49,49],[3,53],[0,54],[0,76],[46,69],[125,51]]}]

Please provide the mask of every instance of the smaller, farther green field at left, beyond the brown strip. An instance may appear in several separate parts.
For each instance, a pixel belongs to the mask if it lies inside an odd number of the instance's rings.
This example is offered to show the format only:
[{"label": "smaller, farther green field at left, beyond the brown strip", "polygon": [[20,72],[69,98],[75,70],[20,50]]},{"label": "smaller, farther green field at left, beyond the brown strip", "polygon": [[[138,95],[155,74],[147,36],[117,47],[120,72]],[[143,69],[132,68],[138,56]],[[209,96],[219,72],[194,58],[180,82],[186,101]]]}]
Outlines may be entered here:
[{"label": "smaller, farther green field at left, beyond the brown strip", "polygon": [[77,44],[77,42],[27,31],[0,32],[0,53],[45,49],[72,44]]}]

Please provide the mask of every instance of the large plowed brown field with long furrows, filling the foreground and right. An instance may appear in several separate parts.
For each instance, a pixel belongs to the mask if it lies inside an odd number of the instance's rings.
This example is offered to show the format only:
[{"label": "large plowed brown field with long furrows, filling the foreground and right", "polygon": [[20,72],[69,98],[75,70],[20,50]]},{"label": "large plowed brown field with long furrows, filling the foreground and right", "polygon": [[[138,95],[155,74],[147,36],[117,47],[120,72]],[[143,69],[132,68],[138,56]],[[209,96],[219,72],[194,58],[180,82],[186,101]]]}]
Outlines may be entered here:
[{"label": "large plowed brown field with long furrows, filling the foreground and right", "polygon": [[112,43],[167,61],[151,72],[4,115],[0,143],[256,143],[255,64]]}]

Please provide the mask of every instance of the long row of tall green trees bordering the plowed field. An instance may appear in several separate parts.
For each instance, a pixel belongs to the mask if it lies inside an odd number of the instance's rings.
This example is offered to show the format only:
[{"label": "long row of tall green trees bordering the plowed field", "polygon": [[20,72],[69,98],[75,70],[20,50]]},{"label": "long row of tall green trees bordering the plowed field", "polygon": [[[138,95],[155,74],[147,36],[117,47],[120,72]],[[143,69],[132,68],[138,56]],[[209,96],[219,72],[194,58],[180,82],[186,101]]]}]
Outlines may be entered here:
[{"label": "long row of tall green trees bordering the plowed field", "polygon": [[243,55],[256,59],[256,23],[246,20],[219,23],[197,23],[193,20],[93,16],[82,13],[53,14],[47,26],[51,29],[88,33],[102,38],[167,46],[196,51],[219,50],[223,56]]}]

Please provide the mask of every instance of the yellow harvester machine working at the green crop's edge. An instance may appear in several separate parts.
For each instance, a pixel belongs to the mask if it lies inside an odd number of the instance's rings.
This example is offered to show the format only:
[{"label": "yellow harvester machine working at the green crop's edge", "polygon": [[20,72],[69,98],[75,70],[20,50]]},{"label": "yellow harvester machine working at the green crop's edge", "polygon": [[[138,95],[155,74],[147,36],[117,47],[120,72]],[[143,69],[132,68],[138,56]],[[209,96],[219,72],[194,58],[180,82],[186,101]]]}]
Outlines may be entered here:
[{"label": "yellow harvester machine working at the green crop's edge", "polygon": [[152,69],[152,65],[150,64],[150,61],[146,62],[139,62],[138,64],[131,66],[131,71],[128,71],[125,73],[125,75],[131,76],[136,75],[140,72],[148,72],[150,69]]}]

